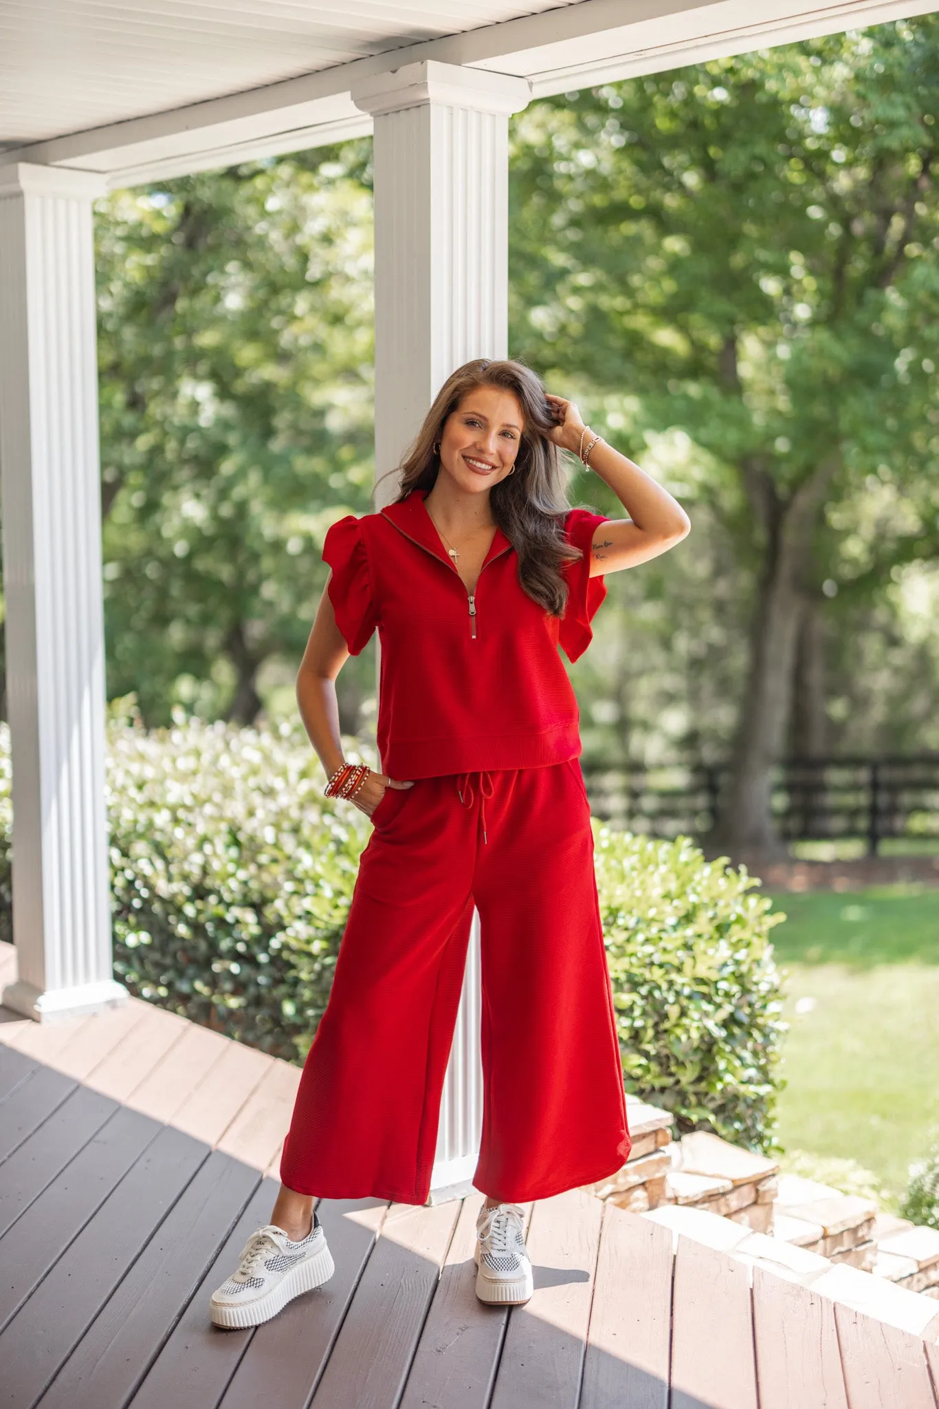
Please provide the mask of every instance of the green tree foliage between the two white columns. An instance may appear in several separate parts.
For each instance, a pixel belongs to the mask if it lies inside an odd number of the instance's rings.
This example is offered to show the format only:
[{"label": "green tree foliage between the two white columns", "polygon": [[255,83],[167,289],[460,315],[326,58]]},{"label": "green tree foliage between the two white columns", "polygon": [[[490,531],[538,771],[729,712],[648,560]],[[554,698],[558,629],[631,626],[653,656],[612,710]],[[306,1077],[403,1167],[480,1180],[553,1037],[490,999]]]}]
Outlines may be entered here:
[{"label": "green tree foliage between the two white columns", "polygon": [[[372,485],[370,144],[97,207],[108,695],[252,723]],[[344,671],[344,727],[370,693]]]}]

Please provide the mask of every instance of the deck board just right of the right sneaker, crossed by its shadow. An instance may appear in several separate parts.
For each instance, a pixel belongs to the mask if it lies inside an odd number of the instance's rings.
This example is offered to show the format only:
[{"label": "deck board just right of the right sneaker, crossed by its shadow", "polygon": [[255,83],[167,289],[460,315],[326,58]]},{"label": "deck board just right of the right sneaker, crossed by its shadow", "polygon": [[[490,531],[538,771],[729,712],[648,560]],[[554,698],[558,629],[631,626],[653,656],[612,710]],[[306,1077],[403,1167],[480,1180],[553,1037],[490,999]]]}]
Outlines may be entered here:
[{"label": "deck board just right of the right sneaker, crossed by its shadow", "polygon": [[510,1317],[493,1409],[577,1409],[601,1217],[583,1189],[535,1205],[535,1295]]}]

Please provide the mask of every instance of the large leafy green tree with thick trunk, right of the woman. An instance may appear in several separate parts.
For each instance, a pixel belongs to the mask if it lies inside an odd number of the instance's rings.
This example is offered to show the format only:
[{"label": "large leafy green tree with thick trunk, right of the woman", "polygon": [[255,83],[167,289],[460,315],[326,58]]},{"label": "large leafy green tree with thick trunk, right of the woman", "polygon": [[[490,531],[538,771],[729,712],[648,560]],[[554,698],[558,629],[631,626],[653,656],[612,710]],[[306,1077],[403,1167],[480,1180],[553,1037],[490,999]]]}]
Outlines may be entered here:
[{"label": "large leafy green tree with thick trunk, right of the woman", "polygon": [[[935,552],[939,20],[714,61],[515,123],[512,348],[681,427],[750,583],[715,841],[773,850],[801,624]],[[871,511],[876,509],[876,511]],[[687,551],[694,551],[694,534]]]}]

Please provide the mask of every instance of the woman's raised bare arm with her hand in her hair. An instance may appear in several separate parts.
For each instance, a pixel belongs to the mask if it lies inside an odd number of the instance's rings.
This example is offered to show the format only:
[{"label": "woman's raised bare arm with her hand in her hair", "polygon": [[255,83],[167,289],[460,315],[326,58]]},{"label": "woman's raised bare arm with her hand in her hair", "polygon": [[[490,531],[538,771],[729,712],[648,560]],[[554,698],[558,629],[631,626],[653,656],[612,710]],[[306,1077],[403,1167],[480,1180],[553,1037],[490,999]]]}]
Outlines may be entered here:
[{"label": "woman's raised bare arm with her hand in her hair", "polygon": [[[574,455],[581,444],[586,451],[594,433],[584,426],[574,403],[560,396],[548,400],[559,421],[550,438]],[[677,499],[605,440],[598,440],[590,451],[588,464],[629,514],[598,526],[593,538],[591,578],[648,562],[687,537],[691,520]]]}]

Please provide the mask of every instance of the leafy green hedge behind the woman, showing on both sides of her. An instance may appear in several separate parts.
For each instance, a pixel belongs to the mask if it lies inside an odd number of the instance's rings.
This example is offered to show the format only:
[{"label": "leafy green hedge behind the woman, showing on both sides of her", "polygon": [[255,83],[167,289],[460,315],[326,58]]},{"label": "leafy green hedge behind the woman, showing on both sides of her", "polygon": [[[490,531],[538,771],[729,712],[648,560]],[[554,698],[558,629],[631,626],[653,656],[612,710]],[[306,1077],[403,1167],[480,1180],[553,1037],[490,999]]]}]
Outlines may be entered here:
[{"label": "leafy green hedge behind the woman, showing on both sides of her", "polygon": [[[327,1003],[370,823],[322,796],[300,721],[266,730],[110,706],[114,972],[131,993],[293,1062]],[[346,755],[376,765],[367,747]],[[0,910],[10,938],[8,730],[0,730]],[[687,840],[594,823],[626,1089],[752,1148],[774,1130],[780,919],[745,871]]]}]

